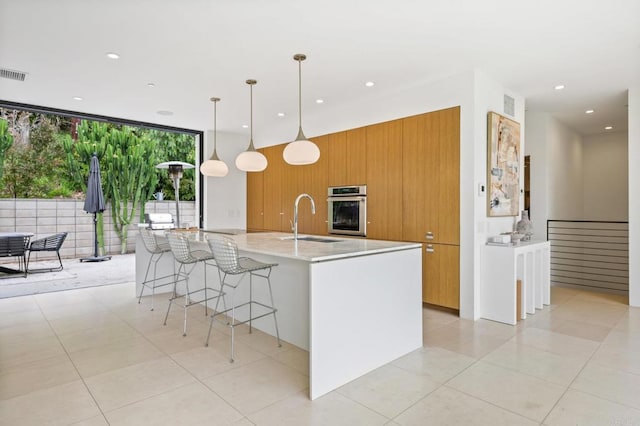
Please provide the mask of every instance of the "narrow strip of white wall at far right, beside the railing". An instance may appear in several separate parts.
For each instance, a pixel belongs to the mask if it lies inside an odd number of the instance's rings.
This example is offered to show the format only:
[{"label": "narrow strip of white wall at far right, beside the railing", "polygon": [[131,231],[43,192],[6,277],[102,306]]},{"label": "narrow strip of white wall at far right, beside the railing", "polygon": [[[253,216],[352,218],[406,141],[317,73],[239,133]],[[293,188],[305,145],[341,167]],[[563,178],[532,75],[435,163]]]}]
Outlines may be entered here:
[{"label": "narrow strip of white wall at far right, beside the railing", "polygon": [[629,89],[629,304],[640,306],[640,86]]}]

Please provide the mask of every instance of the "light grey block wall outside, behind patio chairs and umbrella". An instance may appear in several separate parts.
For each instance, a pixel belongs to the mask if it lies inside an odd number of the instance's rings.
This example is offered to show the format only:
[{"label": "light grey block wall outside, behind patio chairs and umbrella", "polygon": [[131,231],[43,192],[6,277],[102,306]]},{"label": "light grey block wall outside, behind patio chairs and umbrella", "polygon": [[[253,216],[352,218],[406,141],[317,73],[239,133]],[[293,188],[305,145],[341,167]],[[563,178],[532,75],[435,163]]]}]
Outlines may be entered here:
[{"label": "light grey block wall outside, behind patio chairs and umbrella", "polygon": [[[0,199],[0,232],[31,232],[31,240],[43,238],[58,232],[68,232],[60,250],[63,258],[81,258],[93,254],[93,215],[83,210],[84,200],[41,200],[41,199]],[[147,213],[171,213],[175,218],[175,201],[148,201]],[[138,230],[138,214],[134,224],[129,226],[127,253],[135,251]],[[197,226],[195,202],[180,202],[180,220]],[[120,254],[121,244],[111,215],[111,207],[104,211],[104,240],[106,253]],[[35,254],[34,254],[35,255]],[[35,259],[55,258],[55,253],[38,253]],[[32,256],[32,259],[34,257]],[[0,259],[12,262],[15,259]]]}]

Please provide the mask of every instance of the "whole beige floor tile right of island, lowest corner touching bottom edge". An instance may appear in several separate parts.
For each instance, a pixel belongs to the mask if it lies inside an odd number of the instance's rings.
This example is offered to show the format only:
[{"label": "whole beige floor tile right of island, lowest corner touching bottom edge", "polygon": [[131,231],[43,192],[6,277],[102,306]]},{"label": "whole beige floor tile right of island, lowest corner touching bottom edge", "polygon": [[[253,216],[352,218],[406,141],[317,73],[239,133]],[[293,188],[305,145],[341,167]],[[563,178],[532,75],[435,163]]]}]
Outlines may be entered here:
[{"label": "whole beige floor tile right of island, lowest corner touching bottom edge", "polygon": [[535,421],[542,421],[565,387],[479,361],[447,386]]}]

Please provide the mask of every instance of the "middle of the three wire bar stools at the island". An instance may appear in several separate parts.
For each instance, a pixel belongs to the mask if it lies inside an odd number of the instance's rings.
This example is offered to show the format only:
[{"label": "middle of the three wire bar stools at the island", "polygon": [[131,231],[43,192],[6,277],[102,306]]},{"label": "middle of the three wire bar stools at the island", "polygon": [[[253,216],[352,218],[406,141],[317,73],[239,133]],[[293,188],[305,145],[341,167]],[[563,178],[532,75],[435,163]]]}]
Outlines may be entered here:
[{"label": "middle of the three wire bar stools at the island", "polygon": [[[195,304],[204,302],[204,314],[206,316],[208,314],[208,301],[216,299],[215,309],[217,310],[218,303],[220,302],[220,297],[223,296],[224,293],[222,292],[222,286],[220,288],[208,287],[207,266],[213,266],[217,268],[216,262],[214,261],[214,256],[211,252],[207,250],[191,250],[191,244],[186,235],[179,234],[177,232],[167,232],[166,236],[167,240],[169,241],[169,246],[171,247],[173,257],[180,266],[178,267],[178,272],[176,273],[176,278],[174,281],[174,296],[169,300],[167,314],[164,317],[164,325],[167,325],[167,318],[169,317],[169,311],[171,310],[171,305],[173,304],[173,302],[181,297],[184,297],[184,326],[182,335],[186,336],[187,308]],[[193,270],[199,263],[202,263],[204,265],[204,286],[201,289],[191,291],[189,290],[189,275],[193,272]],[[218,277],[220,277],[220,271],[218,271]],[[180,281],[185,282],[185,292],[183,295],[178,294],[177,291],[177,285]],[[207,291],[211,292],[213,295],[209,296],[207,294]],[[204,299],[194,300],[194,295],[201,292],[204,292]],[[226,305],[224,306],[226,307]]]}]

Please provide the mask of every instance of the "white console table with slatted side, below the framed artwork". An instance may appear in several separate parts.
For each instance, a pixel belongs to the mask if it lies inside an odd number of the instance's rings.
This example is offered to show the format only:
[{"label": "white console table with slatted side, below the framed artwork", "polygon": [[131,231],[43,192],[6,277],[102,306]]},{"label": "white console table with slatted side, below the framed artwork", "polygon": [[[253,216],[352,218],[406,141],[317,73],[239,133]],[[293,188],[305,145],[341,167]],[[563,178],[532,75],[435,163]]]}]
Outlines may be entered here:
[{"label": "white console table with slatted side, below the framed artwork", "polygon": [[522,318],[551,302],[550,243],[526,241],[514,246],[482,247],[480,316],[515,325],[516,280],[522,282]]}]

